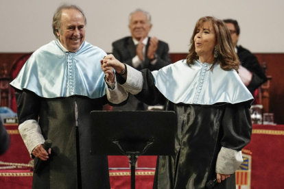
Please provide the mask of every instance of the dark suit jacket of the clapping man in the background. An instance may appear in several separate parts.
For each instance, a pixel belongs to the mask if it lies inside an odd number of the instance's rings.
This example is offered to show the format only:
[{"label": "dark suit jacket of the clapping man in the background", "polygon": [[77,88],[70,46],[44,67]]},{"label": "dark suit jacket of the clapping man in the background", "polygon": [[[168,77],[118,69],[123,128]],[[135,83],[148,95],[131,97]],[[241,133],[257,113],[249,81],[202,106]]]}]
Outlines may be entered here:
[{"label": "dark suit jacket of the clapping man in the background", "polygon": [[[169,46],[167,43],[159,40],[158,49],[156,50],[156,64],[150,64],[149,58],[147,58],[147,49],[150,46],[150,38],[147,42],[145,49],[145,60],[136,68],[141,71],[141,69],[148,68],[150,71],[156,71],[164,66],[171,64],[169,59]],[[136,47],[131,36],[122,38],[113,42],[113,55],[117,60],[132,65],[132,58],[136,56]],[[131,94],[129,95],[128,103],[120,107],[114,107],[113,110],[147,110],[147,105],[138,101]]]}]

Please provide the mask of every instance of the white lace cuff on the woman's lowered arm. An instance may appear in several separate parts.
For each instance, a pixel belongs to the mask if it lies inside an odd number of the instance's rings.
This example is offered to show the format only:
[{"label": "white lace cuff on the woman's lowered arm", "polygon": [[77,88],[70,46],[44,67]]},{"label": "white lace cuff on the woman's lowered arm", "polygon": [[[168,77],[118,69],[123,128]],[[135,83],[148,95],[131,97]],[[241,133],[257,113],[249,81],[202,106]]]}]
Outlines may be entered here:
[{"label": "white lace cuff on the woman's lowered arm", "polygon": [[216,173],[231,175],[243,162],[241,151],[222,147],[216,162]]}]

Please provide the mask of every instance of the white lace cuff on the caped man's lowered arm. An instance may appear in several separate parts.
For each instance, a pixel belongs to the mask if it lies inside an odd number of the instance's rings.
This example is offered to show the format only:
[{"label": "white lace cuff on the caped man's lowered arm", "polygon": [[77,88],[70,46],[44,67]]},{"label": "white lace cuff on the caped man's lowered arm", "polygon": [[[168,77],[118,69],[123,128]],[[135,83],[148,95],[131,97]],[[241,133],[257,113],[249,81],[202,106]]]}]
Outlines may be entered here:
[{"label": "white lace cuff on the caped man's lowered arm", "polygon": [[43,135],[41,134],[38,122],[33,119],[25,121],[19,125],[19,132],[29,151],[29,155],[32,157],[34,148],[38,146],[38,144],[43,144],[45,142],[45,138],[43,138]]}]

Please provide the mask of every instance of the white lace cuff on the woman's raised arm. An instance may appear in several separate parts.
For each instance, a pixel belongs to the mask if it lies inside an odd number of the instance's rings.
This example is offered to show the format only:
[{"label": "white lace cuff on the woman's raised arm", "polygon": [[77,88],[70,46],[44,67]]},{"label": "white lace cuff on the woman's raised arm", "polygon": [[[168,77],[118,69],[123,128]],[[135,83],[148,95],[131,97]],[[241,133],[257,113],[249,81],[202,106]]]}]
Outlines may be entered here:
[{"label": "white lace cuff on the woman's raised arm", "polygon": [[126,66],[127,79],[126,83],[121,86],[123,86],[123,88],[130,92],[132,95],[137,95],[143,88],[143,75],[140,71],[137,71],[131,66]]}]

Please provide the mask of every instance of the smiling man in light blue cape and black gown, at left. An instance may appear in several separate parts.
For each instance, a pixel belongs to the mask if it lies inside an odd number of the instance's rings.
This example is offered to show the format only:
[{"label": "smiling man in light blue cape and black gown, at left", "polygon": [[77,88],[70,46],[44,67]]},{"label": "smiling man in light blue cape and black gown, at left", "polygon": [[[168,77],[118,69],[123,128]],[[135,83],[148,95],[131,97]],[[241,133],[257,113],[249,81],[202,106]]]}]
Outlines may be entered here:
[{"label": "smiling man in light blue cape and black gown, at left", "polygon": [[36,50],[10,84],[20,134],[35,167],[43,162],[32,188],[109,189],[107,156],[90,155],[90,112],[108,103],[100,65],[106,53],[84,40],[86,17],[76,5],[61,5],[52,28],[56,40]]}]

